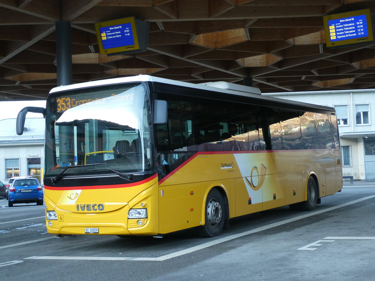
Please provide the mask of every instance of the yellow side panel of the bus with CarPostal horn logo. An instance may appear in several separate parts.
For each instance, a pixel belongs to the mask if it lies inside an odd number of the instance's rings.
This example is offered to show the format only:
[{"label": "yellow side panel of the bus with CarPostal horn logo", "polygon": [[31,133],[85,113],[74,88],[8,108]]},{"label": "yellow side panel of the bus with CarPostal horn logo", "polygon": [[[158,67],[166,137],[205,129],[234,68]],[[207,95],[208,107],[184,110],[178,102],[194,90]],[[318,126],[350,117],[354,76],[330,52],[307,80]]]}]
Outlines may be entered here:
[{"label": "yellow side panel of the bus with CarPostal horn logo", "polygon": [[320,197],[334,194],[338,159],[339,149],[198,152],[159,182],[160,233],[203,225],[211,188],[226,194],[229,218],[307,200],[311,175]]}]

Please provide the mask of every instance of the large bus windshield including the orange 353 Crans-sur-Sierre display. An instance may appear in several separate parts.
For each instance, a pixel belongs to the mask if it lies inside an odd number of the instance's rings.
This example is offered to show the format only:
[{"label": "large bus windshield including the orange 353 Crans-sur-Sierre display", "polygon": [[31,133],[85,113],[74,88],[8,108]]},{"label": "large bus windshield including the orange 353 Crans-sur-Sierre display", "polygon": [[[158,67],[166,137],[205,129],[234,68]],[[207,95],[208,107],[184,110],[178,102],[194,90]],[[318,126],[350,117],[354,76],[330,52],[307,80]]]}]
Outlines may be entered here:
[{"label": "large bus windshield including the orange 353 Crans-sur-Sierre display", "polygon": [[[152,169],[150,109],[143,83],[51,95],[45,176],[108,175]],[[67,167],[76,166],[74,169]]]}]

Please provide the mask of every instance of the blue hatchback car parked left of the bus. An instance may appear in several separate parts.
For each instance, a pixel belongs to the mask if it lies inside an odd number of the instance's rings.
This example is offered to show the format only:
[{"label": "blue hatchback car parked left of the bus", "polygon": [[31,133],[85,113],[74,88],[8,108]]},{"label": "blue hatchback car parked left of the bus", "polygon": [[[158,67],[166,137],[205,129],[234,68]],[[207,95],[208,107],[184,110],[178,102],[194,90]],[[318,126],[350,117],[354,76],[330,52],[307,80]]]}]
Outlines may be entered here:
[{"label": "blue hatchback car parked left of the bus", "polygon": [[9,186],[8,206],[14,203],[36,203],[43,205],[43,187],[31,176],[17,177]]}]

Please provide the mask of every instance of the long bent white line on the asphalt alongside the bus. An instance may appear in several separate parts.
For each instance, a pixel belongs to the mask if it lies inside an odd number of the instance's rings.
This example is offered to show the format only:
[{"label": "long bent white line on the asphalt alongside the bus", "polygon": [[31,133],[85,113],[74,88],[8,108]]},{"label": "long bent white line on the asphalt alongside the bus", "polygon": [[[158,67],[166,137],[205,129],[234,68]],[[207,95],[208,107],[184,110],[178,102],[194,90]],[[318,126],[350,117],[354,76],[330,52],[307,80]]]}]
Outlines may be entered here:
[{"label": "long bent white line on the asphalt alongside the bus", "polygon": [[[174,257],[183,256],[183,255],[186,255],[186,254],[198,251],[198,250],[202,250],[204,248],[208,248],[208,247],[211,247],[213,245],[217,245],[217,244],[220,244],[220,243],[223,243],[223,242],[226,242],[226,241],[230,241],[230,240],[233,240],[233,239],[236,239],[236,238],[240,238],[240,237],[245,236],[245,235],[249,235],[249,234],[256,233],[256,232],[261,232],[263,230],[267,230],[267,229],[270,229],[270,228],[273,228],[273,227],[276,227],[276,226],[281,226],[283,224],[291,223],[293,221],[301,220],[303,218],[308,218],[308,217],[312,217],[314,215],[318,215],[318,214],[329,212],[329,211],[332,211],[332,210],[335,210],[335,209],[339,209],[339,208],[342,208],[342,207],[345,207],[345,206],[348,206],[348,205],[352,205],[352,204],[355,204],[355,203],[358,203],[358,202],[361,202],[361,201],[364,201],[364,200],[367,200],[367,199],[374,198],[374,197],[375,197],[375,195],[363,197],[363,198],[360,198],[360,199],[357,199],[357,200],[350,201],[348,203],[344,203],[344,204],[337,205],[337,206],[334,206],[334,207],[322,209],[320,211],[310,212],[309,214],[300,215],[300,216],[295,217],[295,218],[289,218],[288,220],[279,221],[277,223],[272,223],[272,224],[262,226],[262,227],[258,227],[256,229],[252,229],[252,230],[245,231],[245,232],[242,232],[242,233],[229,235],[229,236],[226,236],[226,237],[223,237],[223,238],[219,238],[219,239],[207,242],[207,243],[196,245],[194,247],[190,247],[190,248],[187,248],[187,249],[184,249],[184,250],[181,250],[181,251],[177,251],[177,252],[174,252],[174,253],[171,253],[171,254],[166,254],[166,255],[160,256],[160,257],[33,256],[33,257],[27,257],[25,259],[33,259],[33,260],[147,260],[147,261],[163,261],[163,260],[172,259]],[[323,240],[320,240],[320,241],[323,241]],[[329,241],[325,241],[325,242],[329,242]],[[316,242],[314,242],[314,243],[316,243]]]}]

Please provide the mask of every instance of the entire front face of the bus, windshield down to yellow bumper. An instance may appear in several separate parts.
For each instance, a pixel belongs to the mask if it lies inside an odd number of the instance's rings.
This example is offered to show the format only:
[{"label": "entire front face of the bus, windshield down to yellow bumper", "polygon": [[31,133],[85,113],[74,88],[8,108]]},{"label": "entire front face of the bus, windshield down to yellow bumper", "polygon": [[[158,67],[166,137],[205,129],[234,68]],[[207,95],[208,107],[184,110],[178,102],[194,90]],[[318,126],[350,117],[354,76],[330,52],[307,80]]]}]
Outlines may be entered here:
[{"label": "entire front face of the bus, windshield down to yellow bumper", "polygon": [[154,103],[144,82],[116,82],[57,87],[48,96],[44,187],[49,233],[159,233],[150,145]]}]

